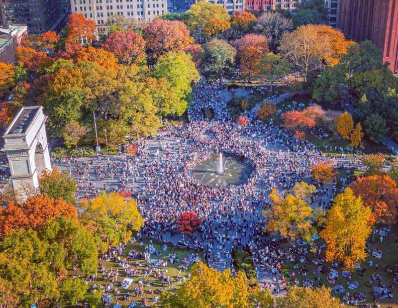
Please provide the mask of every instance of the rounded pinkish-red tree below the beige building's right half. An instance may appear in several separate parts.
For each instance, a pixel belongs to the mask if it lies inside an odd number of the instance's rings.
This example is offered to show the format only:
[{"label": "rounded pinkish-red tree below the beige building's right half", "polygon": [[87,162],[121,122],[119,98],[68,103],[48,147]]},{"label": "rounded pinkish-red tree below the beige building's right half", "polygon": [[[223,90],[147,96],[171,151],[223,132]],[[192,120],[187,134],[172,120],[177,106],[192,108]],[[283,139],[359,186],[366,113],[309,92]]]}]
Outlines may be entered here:
[{"label": "rounded pinkish-red tree below the beige building's right half", "polygon": [[145,60],[145,41],[134,31],[113,32],[102,44],[102,48],[113,53],[120,64],[141,63]]}]

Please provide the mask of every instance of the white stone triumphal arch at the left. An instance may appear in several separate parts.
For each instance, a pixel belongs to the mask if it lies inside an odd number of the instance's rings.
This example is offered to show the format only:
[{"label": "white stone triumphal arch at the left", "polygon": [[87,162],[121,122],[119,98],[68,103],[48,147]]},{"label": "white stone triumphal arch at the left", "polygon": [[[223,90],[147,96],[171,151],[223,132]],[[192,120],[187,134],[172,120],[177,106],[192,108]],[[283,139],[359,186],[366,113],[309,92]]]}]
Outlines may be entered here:
[{"label": "white stone triumphal arch at the left", "polygon": [[51,171],[42,106],[22,107],[5,131],[4,146],[11,171],[11,184],[17,191],[39,187],[38,176]]}]

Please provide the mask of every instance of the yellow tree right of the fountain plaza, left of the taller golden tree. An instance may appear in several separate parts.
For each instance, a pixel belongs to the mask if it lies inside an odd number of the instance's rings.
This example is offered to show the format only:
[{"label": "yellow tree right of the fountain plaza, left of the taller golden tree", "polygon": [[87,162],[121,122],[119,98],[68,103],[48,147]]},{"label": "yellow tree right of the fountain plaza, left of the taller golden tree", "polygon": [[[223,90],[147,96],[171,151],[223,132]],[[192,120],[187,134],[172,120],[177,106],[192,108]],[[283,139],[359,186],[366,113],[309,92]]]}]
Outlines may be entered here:
[{"label": "yellow tree right of the fountain plaza, left of the taller golden tree", "polygon": [[296,240],[304,238],[307,242],[315,230],[311,228],[312,208],[306,203],[307,198],[315,191],[313,185],[296,183],[293,194],[283,198],[279,191],[273,190],[268,196],[273,205],[269,210],[270,220],[266,230],[280,232],[283,237]]}]

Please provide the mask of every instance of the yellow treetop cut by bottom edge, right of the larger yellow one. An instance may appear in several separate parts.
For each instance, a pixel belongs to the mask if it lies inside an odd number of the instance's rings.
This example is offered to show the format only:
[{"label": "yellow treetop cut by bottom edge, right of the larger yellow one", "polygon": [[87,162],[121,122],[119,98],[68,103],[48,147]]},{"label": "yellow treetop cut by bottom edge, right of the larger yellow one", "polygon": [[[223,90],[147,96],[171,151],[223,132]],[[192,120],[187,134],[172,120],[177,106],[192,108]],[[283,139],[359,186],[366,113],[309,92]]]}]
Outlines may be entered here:
[{"label": "yellow treetop cut by bottom edge, right of the larger yellow one", "polygon": [[339,299],[330,294],[330,288],[311,289],[306,287],[292,287],[287,296],[277,298],[279,308],[340,308]]}]

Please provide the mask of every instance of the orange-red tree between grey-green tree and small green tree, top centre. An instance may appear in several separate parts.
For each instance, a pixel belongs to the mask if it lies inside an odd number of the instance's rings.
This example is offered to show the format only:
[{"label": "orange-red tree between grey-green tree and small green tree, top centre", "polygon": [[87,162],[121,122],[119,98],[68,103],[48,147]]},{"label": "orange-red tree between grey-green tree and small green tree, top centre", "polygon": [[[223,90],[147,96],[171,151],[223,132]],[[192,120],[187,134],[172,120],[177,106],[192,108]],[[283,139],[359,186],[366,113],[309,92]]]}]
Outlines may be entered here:
[{"label": "orange-red tree between grey-green tree and small green tree, top centre", "polygon": [[247,74],[249,82],[252,74],[258,70],[260,60],[269,51],[268,40],[263,35],[246,34],[235,41],[240,70]]}]

